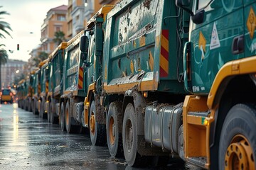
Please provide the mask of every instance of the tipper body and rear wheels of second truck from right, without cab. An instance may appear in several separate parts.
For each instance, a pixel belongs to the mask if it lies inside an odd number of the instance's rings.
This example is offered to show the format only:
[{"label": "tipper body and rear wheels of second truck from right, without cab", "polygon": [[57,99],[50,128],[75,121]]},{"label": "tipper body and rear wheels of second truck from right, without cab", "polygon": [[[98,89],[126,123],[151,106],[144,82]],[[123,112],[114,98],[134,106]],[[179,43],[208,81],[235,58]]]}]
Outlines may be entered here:
[{"label": "tipper body and rear wheels of second truck from right, without cab", "polygon": [[78,118],[75,113],[77,112],[78,103],[84,101],[85,98],[82,52],[79,50],[80,37],[83,33],[82,30],[67,42],[63,61],[63,77],[60,80],[60,88],[63,89],[58,104],[60,129],[62,131],[66,130],[68,133],[82,130],[80,117]]}]

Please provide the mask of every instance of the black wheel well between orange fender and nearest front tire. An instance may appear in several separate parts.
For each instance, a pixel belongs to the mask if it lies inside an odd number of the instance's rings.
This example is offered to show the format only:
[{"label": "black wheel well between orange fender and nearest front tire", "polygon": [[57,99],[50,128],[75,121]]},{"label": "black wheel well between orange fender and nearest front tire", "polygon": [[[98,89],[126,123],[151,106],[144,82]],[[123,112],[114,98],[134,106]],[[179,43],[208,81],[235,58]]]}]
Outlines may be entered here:
[{"label": "black wheel well between orange fender and nearest front tire", "polygon": [[[213,84],[213,86],[216,86],[216,84]],[[210,164],[210,169],[218,169],[220,133],[228,111],[237,103],[255,103],[253,98],[255,95],[255,83],[252,81],[250,74],[226,75],[220,84],[218,84],[218,89],[213,96],[214,100],[210,105],[211,107],[209,107],[211,110],[215,111],[213,115],[215,121],[210,125],[209,141],[210,158],[213,158],[210,162],[215,163]]]}]

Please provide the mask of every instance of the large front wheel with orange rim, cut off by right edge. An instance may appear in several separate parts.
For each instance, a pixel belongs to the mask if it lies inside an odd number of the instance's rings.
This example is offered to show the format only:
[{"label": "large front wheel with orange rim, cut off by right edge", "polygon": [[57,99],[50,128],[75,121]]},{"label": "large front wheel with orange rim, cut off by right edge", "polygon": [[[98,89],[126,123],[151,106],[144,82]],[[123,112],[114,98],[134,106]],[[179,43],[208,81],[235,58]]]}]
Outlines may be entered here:
[{"label": "large front wheel with orange rim, cut off by right edge", "polygon": [[219,169],[256,168],[256,110],[237,104],[225,118],[220,135]]}]

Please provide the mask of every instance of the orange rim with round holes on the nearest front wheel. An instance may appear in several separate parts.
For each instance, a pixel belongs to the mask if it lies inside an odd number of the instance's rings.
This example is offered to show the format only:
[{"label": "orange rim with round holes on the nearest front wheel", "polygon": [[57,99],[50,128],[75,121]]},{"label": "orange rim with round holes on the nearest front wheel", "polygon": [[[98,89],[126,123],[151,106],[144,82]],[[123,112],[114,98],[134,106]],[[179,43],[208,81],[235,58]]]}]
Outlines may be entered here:
[{"label": "orange rim with round holes on the nearest front wheel", "polygon": [[225,153],[225,170],[255,169],[252,148],[243,135],[236,135]]}]

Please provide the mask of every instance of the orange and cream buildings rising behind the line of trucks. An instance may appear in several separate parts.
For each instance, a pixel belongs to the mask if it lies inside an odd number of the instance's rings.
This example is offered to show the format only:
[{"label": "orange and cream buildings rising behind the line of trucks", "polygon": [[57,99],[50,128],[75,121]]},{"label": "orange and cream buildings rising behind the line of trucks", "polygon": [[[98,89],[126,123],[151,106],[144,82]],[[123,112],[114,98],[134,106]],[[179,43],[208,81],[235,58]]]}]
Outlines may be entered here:
[{"label": "orange and cream buildings rising behind the line of trucks", "polygon": [[31,50],[28,68],[37,67],[34,58],[40,52],[50,54],[58,45],[53,42],[54,33],[58,30],[65,33],[65,39],[70,40],[81,30],[87,28],[87,21],[105,4],[117,4],[119,0],[67,0],[68,6],[51,8],[41,26],[41,45]]}]

